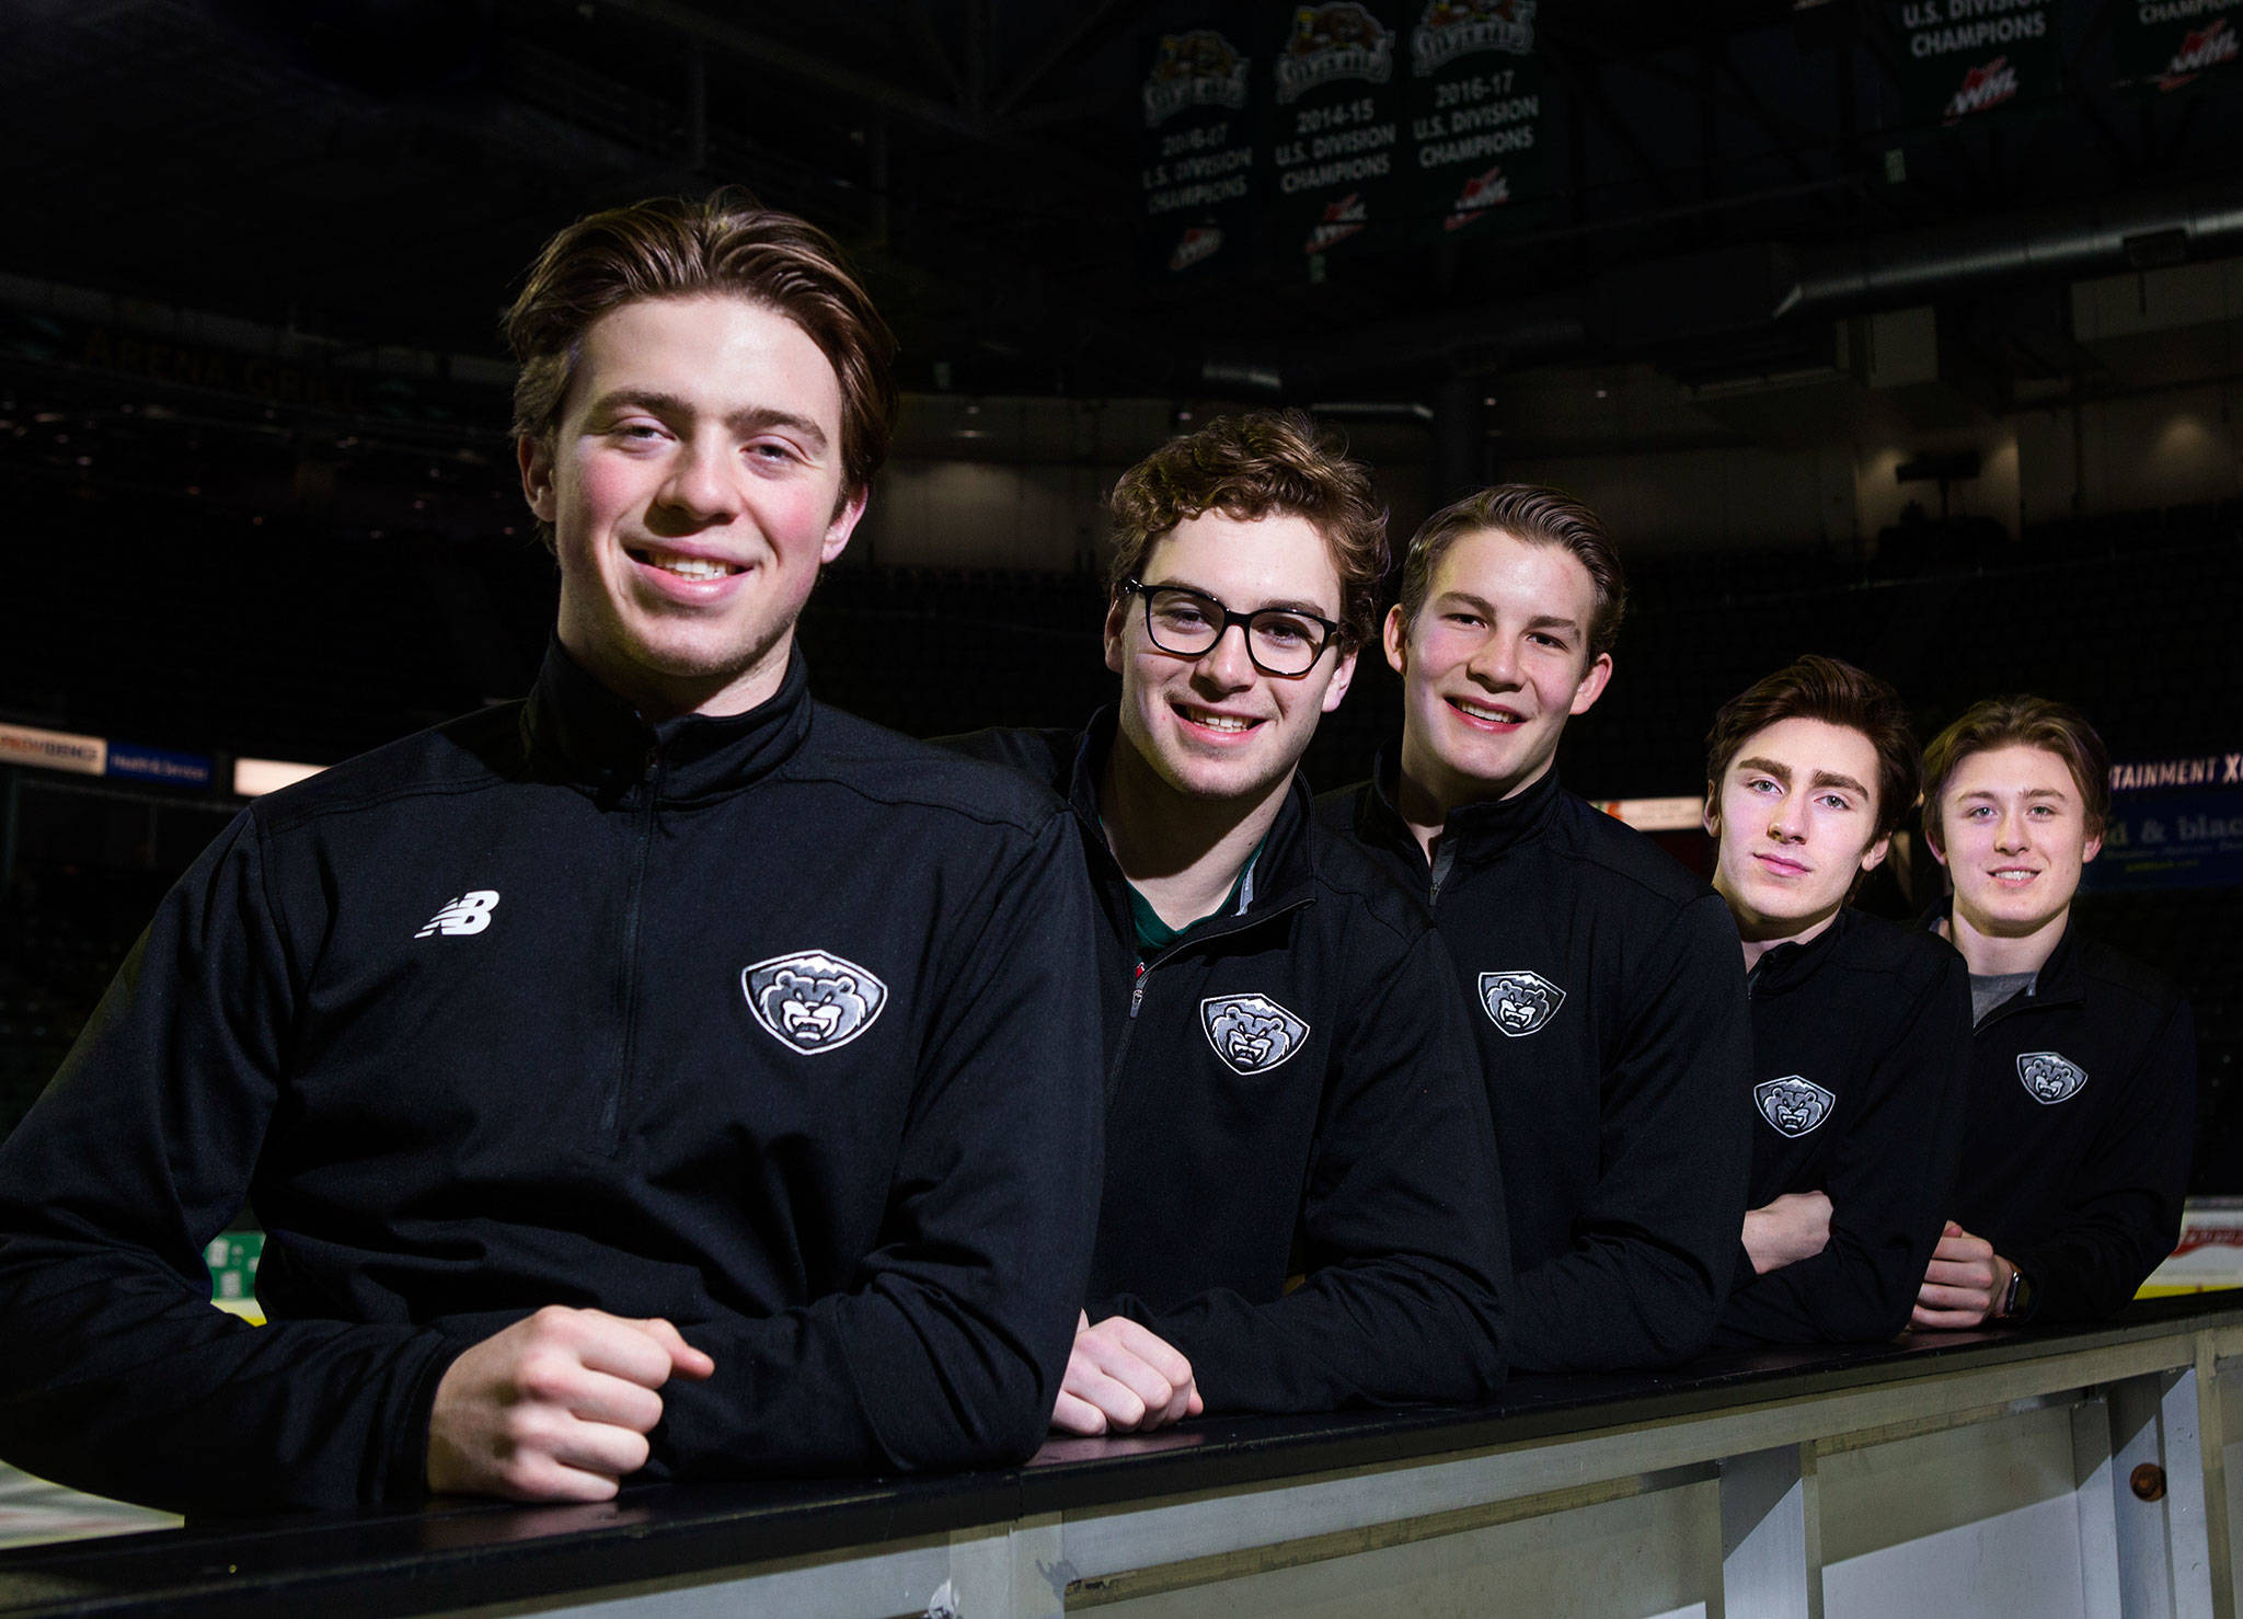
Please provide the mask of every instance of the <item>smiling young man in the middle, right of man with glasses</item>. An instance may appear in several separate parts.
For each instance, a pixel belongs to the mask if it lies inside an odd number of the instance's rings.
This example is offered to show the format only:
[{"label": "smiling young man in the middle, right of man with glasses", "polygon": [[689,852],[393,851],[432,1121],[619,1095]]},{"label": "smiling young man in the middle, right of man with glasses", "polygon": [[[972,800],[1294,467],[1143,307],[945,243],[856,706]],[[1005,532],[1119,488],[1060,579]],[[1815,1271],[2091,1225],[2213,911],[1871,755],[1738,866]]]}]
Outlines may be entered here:
[{"label": "smiling young man in the middle, right of man with glasses", "polygon": [[1745,1213],[1752,1029],[1720,899],[1559,787],[1626,605],[1597,516],[1498,484],[1411,540],[1386,662],[1402,751],[1321,805],[1415,895],[1478,1009],[1516,1370],[1705,1348]]}]

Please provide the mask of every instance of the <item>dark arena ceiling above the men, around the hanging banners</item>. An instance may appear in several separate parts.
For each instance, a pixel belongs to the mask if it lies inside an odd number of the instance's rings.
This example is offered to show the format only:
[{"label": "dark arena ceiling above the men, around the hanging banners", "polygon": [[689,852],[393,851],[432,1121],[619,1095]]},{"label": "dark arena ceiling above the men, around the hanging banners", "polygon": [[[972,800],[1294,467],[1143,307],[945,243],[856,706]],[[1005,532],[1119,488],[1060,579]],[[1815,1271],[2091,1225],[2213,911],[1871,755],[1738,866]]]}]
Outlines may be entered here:
[{"label": "dark arena ceiling above the men, around the hanging banners", "polygon": [[1929,300],[1967,305],[1992,363],[2061,370],[2061,318],[2016,287],[2243,247],[2243,96],[2099,87],[2108,4],[2077,7],[2055,114],[1911,128],[1862,0],[1543,0],[1568,105],[1550,220],[1162,287],[1137,253],[1142,40],[1211,9],[16,0],[0,269],[496,354],[556,224],[745,182],[850,242],[913,388],[1422,397],[1545,357],[1781,368],[1828,312]]}]

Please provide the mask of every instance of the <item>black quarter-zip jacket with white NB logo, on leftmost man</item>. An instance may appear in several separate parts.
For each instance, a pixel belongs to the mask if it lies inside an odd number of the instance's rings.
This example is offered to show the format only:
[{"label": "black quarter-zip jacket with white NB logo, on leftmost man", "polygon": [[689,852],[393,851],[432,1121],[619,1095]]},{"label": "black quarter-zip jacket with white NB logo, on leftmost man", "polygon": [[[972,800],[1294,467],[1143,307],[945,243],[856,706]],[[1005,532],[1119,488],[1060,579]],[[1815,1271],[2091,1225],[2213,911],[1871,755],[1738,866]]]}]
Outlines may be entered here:
[{"label": "black quarter-zip jacket with white NB logo, on leftmost man", "polygon": [[[424,1493],[541,1305],[668,1316],[639,1478],[1018,1460],[1097,1211],[1092,901],[1007,771],[810,700],[507,704],[249,805],[0,1148],[0,1455],[218,1511]],[[269,1325],[211,1307],[242,1202]]]}]

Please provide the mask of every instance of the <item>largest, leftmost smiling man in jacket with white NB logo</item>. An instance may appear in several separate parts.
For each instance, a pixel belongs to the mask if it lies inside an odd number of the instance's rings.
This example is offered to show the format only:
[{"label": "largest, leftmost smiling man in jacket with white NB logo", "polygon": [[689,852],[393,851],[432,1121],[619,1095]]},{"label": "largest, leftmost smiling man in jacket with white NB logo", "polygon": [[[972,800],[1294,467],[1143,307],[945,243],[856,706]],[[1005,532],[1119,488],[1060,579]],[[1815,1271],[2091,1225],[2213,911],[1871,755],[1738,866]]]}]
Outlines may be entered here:
[{"label": "largest, leftmost smiling man in jacket with white NB logo", "polygon": [[[1095,1218],[1065,812],[810,700],[890,339],[724,195],[507,316],[552,650],[260,798],[0,1148],[0,1453],[173,1509],[1023,1458]],[[202,1245],[265,1224],[251,1330]]]}]

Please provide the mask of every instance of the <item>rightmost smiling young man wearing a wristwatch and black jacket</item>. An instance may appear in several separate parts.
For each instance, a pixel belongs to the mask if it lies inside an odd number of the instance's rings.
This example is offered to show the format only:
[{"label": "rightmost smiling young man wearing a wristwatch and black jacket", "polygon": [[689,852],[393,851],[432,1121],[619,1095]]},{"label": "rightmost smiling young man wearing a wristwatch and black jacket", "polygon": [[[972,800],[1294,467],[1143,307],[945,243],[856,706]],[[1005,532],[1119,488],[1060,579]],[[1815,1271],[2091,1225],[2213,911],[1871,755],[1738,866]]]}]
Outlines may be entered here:
[{"label": "rightmost smiling young man wearing a wristwatch and black jacket", "polygon": [[2046,697],[1981,702],[1924,749],[1924,841],[1954,881],[1938,931],[1969,962],[1976,1034],[1920,1327],[2106,1316],[2180,1238],[2189,1002],[2073,919],[2108,783],[2102,738]]}]

